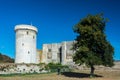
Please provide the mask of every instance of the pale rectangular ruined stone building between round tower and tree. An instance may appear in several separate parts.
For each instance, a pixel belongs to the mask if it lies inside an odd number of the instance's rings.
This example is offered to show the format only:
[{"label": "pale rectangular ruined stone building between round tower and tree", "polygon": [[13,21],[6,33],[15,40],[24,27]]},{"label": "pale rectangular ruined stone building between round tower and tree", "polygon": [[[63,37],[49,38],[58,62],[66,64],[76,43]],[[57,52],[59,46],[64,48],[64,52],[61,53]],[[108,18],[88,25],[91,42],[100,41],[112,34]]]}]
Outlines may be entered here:
[{"label": "pale rectangular ruined stone building between round tower and tree", "polygon": [[64,41],[61,43],[43,44],[43,63],[73,63],[74,51],[72,45],[74,41]]}]

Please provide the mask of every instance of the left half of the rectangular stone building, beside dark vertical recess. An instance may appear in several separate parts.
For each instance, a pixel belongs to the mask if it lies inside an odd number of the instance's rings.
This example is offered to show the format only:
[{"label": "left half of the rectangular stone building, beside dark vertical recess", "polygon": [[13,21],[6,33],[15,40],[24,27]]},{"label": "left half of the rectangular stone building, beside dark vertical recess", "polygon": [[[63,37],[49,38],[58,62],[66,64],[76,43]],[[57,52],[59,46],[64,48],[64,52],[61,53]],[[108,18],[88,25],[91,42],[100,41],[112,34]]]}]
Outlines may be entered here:
[{"label": "left half of the rectangular stone building, beside dark vertical recess", "polygon": [[59,61],[59,48],[60,44],[43,44],[43,59],[44,63],[58,63]]}]

